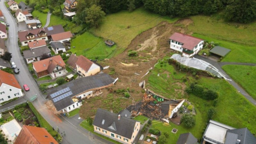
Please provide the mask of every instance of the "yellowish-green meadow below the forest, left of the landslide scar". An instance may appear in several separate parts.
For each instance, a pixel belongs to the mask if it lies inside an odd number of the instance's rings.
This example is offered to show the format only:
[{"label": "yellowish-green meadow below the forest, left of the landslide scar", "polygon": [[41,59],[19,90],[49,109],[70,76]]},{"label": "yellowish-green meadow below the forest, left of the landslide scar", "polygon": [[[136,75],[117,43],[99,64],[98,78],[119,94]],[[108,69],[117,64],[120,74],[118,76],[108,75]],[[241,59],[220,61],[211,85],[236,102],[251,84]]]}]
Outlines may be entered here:
[{"label": "yellowish-green meadow below the forest, left of the landslide scar", "polygon": [[[104,39],[111,39],[118,45],[116,54],[120,54],[138,34],[148,30],[162,21],[170,23],[178,18],[161,17],[146,11],[143,7],[129,12],[127,10],[109,14],[103,18],[99,28],[90,31]],[[130,27],[127,29],[127,27]]]}]

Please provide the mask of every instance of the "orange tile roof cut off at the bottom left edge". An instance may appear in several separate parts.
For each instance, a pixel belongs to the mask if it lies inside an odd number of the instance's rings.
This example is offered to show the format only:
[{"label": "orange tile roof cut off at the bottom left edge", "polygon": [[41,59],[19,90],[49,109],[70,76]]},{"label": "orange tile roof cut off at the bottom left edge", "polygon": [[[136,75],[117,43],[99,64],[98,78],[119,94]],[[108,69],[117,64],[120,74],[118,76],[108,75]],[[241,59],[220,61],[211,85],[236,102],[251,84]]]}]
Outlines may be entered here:
[{"label": "orange tile roof cut off at the bottom left edge", "polygon": [[58,144],[45,128],[23,125],[14,144]]}]

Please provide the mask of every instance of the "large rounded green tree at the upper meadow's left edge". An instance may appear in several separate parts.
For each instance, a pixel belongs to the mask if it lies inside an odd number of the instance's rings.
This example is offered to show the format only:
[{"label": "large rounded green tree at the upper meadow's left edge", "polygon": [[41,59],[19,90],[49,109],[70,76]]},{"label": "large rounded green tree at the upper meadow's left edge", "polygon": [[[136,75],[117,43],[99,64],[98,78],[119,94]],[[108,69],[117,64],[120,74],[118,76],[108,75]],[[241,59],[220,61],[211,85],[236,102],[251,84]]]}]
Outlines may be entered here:
[{"label": "large rounded green tree at the upper meadow's left edge", "polygon": [[101,19],[106,15],[101,7],[93,4],[90,8],[85,9],[86,17],[85,22],[91,26],[99,26]]}]

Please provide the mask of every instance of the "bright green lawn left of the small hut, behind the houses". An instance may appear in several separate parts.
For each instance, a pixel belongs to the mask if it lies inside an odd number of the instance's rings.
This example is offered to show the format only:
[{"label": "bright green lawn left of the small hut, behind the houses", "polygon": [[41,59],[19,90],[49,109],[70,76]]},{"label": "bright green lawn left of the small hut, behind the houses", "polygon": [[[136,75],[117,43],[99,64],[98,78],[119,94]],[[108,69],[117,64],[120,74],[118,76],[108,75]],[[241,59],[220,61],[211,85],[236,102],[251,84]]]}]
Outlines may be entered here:
[{"label": "bright green lawn left of the small hut, behind the houses", "polygon": [[[76,48],[73,48],[73,47]],[[71,41],[71,52],[77,55],[84,55],[88,59],[105,59],[111,58],[116,50],[116,45],[107,47],[104,41],[84,32]]]}]

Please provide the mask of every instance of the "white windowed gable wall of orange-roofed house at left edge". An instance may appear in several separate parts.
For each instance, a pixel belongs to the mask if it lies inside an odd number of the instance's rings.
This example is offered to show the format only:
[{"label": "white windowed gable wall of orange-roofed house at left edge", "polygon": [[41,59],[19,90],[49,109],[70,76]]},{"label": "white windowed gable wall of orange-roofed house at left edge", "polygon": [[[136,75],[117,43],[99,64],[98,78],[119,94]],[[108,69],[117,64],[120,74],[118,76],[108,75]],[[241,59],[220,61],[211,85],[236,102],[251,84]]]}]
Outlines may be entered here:
[{"label": "white windowed gable wall of orange-roofed house at left edge", "polygon": [[[11,91],[10,91],[10,89],[11,89]],[[4,93],[1,94],[1,92],[3,92],[3,91],[4,91]],[[14,94],[16,94],[16,93],[19,93],[19,94],[14,96]],[[10,98],[8,98],[8,96],[10,96]],[[15,97],[22,97],[22,96],[23,96],[23,94],[22,94],[21,89],[18,89],[16,87],[10,86],[10,85],[5,84],[5,83],[2,83],[2,85],[0,86],[0,103],[3,103],[5,101],[8,101],[8,100],[13,99]],[[4,100],[2,100],[2,98]]]}]

